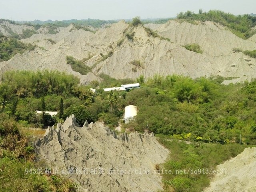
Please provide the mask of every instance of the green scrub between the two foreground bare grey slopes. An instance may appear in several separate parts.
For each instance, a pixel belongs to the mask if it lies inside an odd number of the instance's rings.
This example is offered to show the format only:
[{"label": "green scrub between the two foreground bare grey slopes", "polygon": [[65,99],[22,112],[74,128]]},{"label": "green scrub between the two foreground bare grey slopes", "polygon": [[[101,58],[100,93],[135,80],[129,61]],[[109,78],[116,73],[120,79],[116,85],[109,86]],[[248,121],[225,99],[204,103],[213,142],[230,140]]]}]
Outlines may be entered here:
[{"label": "green scrub between the two foreground bare grey slopes", "polygon": [[[165,192],[200,192],[210,184],[216,166],[240,154],[249,146],[239,144],[185,143],[173,137],[157,135],[159,141],[171,152],[162,165]],[[167,171],[167,172],[166,172]],[[171,171],[171,172],[169,172]],[[228,170],[217,170],[225,173]]]}]

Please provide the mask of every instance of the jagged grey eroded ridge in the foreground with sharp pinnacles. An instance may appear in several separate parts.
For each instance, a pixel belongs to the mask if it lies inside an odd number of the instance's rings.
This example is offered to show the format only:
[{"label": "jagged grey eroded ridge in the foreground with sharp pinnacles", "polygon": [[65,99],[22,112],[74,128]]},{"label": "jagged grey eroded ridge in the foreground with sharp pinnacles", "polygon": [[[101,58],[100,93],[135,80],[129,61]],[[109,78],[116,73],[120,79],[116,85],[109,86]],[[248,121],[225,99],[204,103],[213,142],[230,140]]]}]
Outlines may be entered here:
[{"label": "jagged grey eroded ridge in the foreground with sharp pinnacles", "polygon": [[65,174],[88,192],[155,192],[162,189],[155,165],[164,162],[168,150],[154,134],[116,135],[100,123],[83,127],[70,116],[57,128],[48,128],[35,144],[41,160]]}]

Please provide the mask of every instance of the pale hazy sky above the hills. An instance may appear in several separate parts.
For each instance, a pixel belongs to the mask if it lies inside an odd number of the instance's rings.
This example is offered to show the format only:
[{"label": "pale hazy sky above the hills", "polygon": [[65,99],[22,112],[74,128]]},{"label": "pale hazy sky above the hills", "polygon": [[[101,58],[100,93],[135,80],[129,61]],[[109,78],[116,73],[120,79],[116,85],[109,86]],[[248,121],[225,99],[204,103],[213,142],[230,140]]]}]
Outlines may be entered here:
[{"label": "pale hazy sky above the hills", "polygon": [[0,18],[11,20],[170,18],[210,9],[256,14],[256,0],[0,0]]}]

